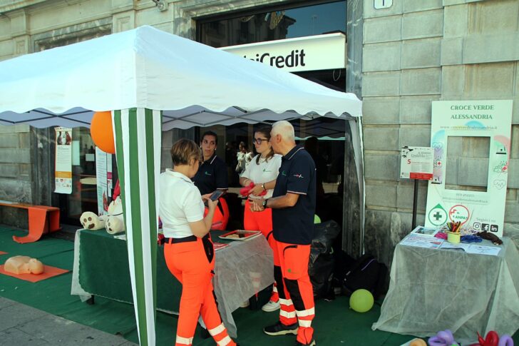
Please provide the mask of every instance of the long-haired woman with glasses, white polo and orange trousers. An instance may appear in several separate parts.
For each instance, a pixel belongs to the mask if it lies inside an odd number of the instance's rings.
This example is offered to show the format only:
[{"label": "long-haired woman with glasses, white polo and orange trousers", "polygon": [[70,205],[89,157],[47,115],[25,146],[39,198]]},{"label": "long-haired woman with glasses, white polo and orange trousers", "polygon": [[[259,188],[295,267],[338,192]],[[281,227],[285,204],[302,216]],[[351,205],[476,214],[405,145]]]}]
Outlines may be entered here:
[{"label": "long-haired woman with glasses, white polo and orange trousers", "polygon": [[[250,190],[250,199],[255,198],[270,198],[274,185],[276,185],[277,174],[279,167],[281,167],[281,158],[279,154],[274,154],[272,145],[269,143],[271,127],[263,127],[257,130],[254,134],[254,146],[256,148],[257,156],[252,158],[250,164],[245,168],[245,171],[240,177],[240,185],[254,187]],[[265,195],[262,193],[266,192]],[[260,195],[262,195],[260,197]],[[243,220],[245,230],[261,230],[262,234],[267,238],[271,248],[273,247],[274,237],[272,236],[272,209],[265,208],[262,212],[253,213],[250,210],[249,199],[245,201],[245,212]],[[277,273],[279,271],[279,273]],[[282,289],[282,283],[278,283],[278,278],[281,279],[281,268],[279,267],[279,260],[274,253],[274,278],[276,283],[272,296],[269,302],[262,307],[263,311],[275,311],[279,309],[279,296],[277,289]]]}]

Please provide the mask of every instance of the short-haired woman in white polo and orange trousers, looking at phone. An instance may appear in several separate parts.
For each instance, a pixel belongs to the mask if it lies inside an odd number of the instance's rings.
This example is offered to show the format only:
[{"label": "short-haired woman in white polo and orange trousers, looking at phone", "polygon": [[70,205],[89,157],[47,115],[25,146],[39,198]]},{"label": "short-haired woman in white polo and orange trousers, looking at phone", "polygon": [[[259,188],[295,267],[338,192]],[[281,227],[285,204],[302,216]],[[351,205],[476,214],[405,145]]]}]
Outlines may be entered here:
[{"label": "short-haired woman in white polo and orange trousers, looking at phone", "polygon": [[[209,230],[218,201],[212,201],[209,194],[200,195],[191,180],[202,151],[195,142],[180,139],[171,148],[171,158],[173,169],[160,175],[159,215],[166,265],[182,284],[175,346],[192,345],[200,315],[218,345],[235,346],[218,313],[211,283],[215,250]],[[205,217],[204,200],[209,210]]]}]

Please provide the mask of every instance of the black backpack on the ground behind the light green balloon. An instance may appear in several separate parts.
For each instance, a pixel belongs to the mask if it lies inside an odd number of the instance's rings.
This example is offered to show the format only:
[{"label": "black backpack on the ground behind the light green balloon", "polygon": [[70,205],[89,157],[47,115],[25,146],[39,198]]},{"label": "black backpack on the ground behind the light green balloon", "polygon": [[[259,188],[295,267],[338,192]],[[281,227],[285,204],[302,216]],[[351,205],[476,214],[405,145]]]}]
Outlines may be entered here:
[{"label": "black backpack on the ground behind the light green balloon", "polygon": [[375,299],[378,299],[383,293],[386,275],[386,265],[377,262],[373,255],[366,253],[346,270],[342,279],[343,292],[351,295],[356,290],[364,288],[364,290],[369,290]]}]

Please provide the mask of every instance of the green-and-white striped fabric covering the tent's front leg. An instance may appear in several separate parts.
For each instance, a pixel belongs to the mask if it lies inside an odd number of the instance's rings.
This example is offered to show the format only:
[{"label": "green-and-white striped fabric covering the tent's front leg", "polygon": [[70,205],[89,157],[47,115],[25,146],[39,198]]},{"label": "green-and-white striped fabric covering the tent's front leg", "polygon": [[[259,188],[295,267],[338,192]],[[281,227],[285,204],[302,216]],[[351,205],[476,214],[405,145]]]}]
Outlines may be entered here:
[{"label": "green-and-white striped fabric covering the tent's front leg", "polygon": [[112,118],[139,343],[155,346],[162,113],[130,108]]}]

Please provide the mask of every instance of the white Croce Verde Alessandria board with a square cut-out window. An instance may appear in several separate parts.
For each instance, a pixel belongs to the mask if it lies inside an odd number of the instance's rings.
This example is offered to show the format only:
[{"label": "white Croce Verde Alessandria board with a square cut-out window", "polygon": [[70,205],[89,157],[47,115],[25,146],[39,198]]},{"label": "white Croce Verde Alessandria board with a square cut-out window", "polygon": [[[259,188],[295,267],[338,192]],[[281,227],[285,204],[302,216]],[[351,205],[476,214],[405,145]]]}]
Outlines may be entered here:
[{"label": "white Croce Verde Alessandria board with a square cut-out window", "polygon": [[[433,101],[434,168],[427,190],[426,227],[461,221],[475,230],[503,236],[511,122],[511,100]],[[447,143],[451,136],[490,139],[486,191],[446,189]]]}]

